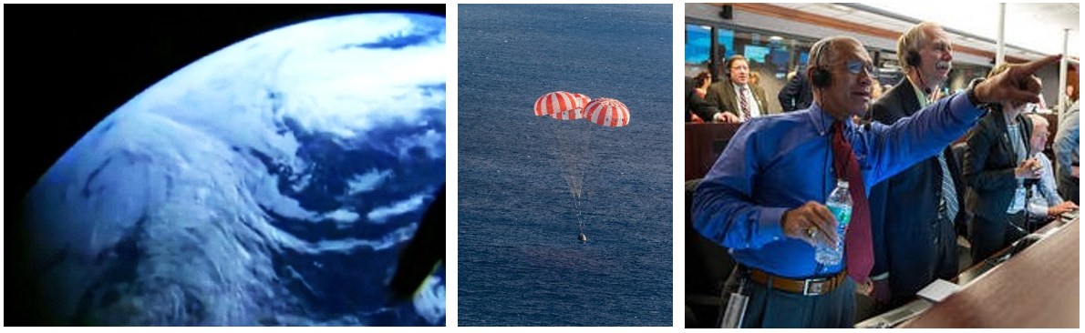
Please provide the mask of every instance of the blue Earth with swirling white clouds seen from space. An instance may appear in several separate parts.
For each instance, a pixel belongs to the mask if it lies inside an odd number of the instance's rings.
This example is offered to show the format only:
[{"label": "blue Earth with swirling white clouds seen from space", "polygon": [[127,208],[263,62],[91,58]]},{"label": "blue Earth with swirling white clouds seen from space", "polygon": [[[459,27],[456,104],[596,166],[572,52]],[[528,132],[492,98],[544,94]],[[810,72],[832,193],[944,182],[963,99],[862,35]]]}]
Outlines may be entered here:
[{"label": "blue Earth with swirling white clouds seen from space", "polygon": [[[20,208],[60,324],[444,325],[445,269],[387,288],[445,183],[445,18],[238,42],[82,136]],[[12,306],[9,304],[9,306]]]}]

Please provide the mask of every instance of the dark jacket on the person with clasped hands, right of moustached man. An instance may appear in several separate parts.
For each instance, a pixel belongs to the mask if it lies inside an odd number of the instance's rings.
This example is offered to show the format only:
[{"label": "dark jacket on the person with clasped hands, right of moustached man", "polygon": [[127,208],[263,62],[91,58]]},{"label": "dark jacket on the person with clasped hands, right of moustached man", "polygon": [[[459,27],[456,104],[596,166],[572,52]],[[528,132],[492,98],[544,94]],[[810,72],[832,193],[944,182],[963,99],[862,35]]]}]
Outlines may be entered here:
[{"label": "dark jacket on the person with clasped hands, right of moustached man", "polygon": [[[1032,120],[1018,115],[1017,121],[1027,148],[1029,137],[1032,136]],[[965,181],[971,189],[969,210],[987,221],[1005,221],[1006,210],[1009,209],[1018,186],[1013,169],[1019,164],[1021,161],[1013,154],[1013,144],[1006,131],[1006,117],[1000,111],[987,112],[968,132]]]}]

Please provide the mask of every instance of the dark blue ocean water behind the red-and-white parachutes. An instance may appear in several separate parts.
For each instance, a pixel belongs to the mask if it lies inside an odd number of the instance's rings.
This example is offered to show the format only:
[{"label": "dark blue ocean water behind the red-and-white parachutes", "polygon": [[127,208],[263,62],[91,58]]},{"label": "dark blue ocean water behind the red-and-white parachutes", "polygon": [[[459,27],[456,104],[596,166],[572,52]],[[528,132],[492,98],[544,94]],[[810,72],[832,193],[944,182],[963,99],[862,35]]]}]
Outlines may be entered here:
[{"label": "dark blue ocean water behind the red-and-white parachutes", "polygon": [[[672,6],[459,6],[458,324],[673,324]],[[611,97],[576,209],[533,105]],[[587,123],[579,123],[587,124]],[[565,130],[566,128],[558,128]]]}]

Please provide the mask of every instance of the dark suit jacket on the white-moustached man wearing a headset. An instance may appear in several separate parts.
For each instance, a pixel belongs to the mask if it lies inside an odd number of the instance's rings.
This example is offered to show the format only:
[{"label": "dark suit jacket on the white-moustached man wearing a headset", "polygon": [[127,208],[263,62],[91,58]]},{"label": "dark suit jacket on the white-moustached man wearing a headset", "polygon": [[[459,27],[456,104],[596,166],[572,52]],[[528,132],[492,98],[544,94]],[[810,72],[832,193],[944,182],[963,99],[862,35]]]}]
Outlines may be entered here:
[{"label": "dark suit jacket on the white-moustached man wearing a headset", "polygon": [[[893,124],[919,111],[919,96],[905,78],[875,102],[869,117]],[[955,224],[968,221],[963,209],[965,182],[950,147],[940,154],[946,158],[960,207],[953,224],[940,222],[937,215],[945,175],[936,156],[875,184],[868,194],[875,239],[871,275],[890,272],[890,288],[896,304],[909,301],[936,278],[949,279],[957,275]],[[942,253],[937,251],[940,247]]]}]

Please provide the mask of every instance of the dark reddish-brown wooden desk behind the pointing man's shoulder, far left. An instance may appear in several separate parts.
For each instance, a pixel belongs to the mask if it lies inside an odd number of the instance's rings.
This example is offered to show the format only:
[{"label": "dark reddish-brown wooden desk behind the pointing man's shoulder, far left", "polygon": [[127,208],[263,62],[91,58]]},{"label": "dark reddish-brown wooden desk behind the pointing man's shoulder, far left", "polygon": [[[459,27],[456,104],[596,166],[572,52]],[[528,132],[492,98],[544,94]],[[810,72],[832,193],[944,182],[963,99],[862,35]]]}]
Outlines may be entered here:
[{"label": "dark reddish-brown wooden desk behind the pointing man's shoulder, far left", "polygon": [[741,123],[686,123],[686,181],[703,178]]}]

